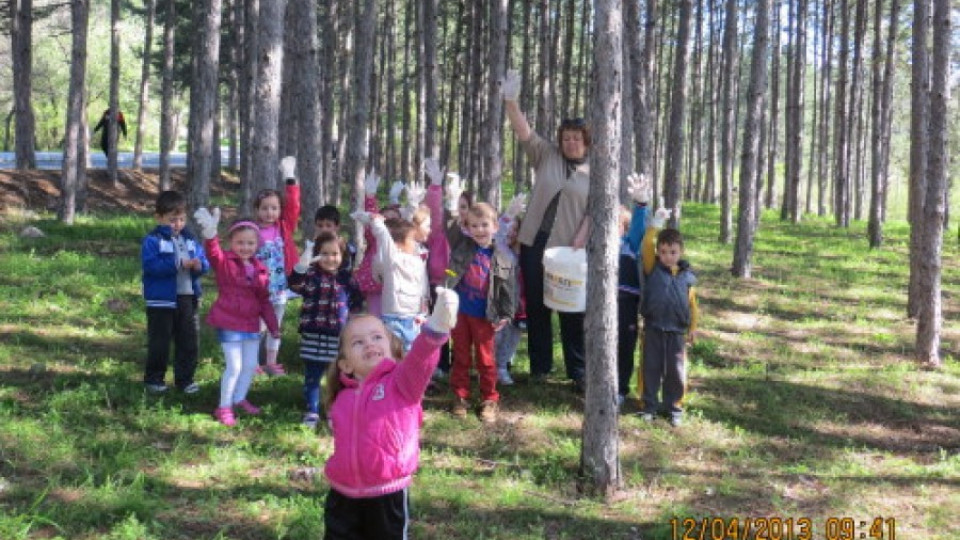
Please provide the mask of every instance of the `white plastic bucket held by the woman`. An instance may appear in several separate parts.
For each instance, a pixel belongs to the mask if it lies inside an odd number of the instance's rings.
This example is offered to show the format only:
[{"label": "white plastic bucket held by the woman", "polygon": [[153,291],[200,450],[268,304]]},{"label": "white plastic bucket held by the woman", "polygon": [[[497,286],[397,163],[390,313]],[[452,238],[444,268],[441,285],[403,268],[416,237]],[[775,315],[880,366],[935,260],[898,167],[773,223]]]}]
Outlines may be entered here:
[{"label": "white plastic bucket held by the woman", "polygon": [[550,309],[587,309],[587,250],[554,247],[543,253],[543,303]]}]

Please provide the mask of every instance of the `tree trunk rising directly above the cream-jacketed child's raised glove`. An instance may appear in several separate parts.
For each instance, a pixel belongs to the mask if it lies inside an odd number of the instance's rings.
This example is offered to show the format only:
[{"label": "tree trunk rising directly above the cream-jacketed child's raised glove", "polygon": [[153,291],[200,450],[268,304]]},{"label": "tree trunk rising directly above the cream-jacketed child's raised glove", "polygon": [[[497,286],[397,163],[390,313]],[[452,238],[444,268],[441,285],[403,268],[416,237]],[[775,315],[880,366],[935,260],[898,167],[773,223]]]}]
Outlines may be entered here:
[{"label": "tree trunk rising directly above the cream-jacketed child's raised glove", "polygon": [[367,166],[367,122],[370,112],[370,73],[373,70],[373,51],[376,50],[374,27],[377,20],[377,1],[364,0],[357,6],[356,41],[353,68],[351,69],[353,111],[347,126],[347,160],[344,164],[346,178],[352,188],[351,208],[363,208],[363,179]]}]

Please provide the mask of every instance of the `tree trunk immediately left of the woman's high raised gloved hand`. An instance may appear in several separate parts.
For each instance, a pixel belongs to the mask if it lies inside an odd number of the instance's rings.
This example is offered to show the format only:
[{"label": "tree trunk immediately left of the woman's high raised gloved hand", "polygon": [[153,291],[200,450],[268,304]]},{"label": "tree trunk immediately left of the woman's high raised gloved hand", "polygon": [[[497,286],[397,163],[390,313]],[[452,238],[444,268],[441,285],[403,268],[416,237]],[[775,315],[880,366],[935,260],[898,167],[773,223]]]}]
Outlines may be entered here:
[{"label": "tree trunk immediately left of the woman's high raised gloved hand", "polygon": [[[572,23],[572,21],[571,21]],[[507,67],[507,0],[490,3],[490,66],[487,72],[487,121],[480,140],[483,148],[483,171],[478,183],[479,200],[500,207],[503,181],[501,139],[503,133],[503,97],[499,79]]]}]

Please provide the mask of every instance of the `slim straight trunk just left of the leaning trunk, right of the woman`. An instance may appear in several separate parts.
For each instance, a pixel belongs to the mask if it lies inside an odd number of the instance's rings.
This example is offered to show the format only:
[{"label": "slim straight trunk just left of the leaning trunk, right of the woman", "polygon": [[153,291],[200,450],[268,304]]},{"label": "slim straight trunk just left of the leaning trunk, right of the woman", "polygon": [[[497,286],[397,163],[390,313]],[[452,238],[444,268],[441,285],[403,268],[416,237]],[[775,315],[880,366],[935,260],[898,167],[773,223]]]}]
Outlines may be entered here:
[{"label": "slim straight trunk just left of the leaning trunk, right of the woman", "polygon": [[720,242],[730,242],[733,228],[733,151],[735,143],[734,108],[737,106],[733,79],[737,72],[737,0],[727,0],[723,19],[723,117],[720,122],[721,218]]}]

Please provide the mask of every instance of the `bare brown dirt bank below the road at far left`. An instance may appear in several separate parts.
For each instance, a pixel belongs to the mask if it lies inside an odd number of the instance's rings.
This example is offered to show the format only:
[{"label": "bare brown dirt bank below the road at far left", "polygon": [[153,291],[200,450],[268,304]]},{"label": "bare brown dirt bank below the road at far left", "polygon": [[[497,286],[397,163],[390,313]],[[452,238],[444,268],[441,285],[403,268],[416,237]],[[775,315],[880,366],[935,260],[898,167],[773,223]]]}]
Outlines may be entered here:
[{"label": "bare brown dirt bank below the road at far left", "polygon": [[[106,170],[87,171],[87,210],[93,212],[149,212],[159,193],[157,169],[121,169],[116,184]],[[170,176],[173,189],[187,187],[186,171],[174,170]],[[211,194],[235,192],[239,183],[230,175],[211,185]],[[60,204],[60,171],[0,171],[0,214],[34,211],[54,212]]]}]

